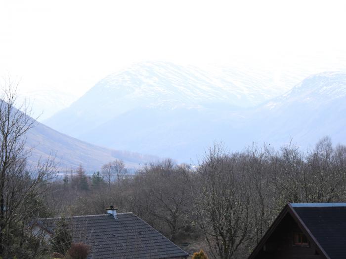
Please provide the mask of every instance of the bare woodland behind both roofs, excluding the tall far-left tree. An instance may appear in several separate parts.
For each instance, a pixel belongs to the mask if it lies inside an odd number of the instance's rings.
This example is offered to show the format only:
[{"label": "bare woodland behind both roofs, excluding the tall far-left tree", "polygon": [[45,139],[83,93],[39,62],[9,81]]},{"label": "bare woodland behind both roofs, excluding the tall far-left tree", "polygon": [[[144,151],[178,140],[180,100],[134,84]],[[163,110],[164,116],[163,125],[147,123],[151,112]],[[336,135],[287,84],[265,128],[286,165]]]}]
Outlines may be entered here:
[{"label": "bare woodland behind both roofs, excluding the tall far-left tree", "polygon": [[102,214],[114,204],[133,212],[188,250],[210,258],[247,258],[287,202],[346,200],[346,147],[321,139],[312,150],[268,145],[229,153],[208,149],[198,166],[170,159],[112,181],[98,172],[51,185],[55,214]]}]

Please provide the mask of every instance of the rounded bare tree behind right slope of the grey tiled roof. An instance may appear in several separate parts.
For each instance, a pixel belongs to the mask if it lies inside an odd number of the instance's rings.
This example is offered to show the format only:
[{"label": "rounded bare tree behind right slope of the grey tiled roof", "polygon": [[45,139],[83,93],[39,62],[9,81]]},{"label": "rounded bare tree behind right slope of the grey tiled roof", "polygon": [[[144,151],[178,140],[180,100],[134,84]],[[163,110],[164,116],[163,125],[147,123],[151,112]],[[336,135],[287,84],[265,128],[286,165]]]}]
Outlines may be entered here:
[{"label": "rounded bare tree behind right slope of the grey tiled roof", "polygon": [[142,201],[147,213],[154,221],[162,222],[168,227],[164,231],[170,239],[189,225],[188,214],[191,210],[191,194],[186,175],[190,168],[177,166],[170,159],[146,166],[141,176]]}]

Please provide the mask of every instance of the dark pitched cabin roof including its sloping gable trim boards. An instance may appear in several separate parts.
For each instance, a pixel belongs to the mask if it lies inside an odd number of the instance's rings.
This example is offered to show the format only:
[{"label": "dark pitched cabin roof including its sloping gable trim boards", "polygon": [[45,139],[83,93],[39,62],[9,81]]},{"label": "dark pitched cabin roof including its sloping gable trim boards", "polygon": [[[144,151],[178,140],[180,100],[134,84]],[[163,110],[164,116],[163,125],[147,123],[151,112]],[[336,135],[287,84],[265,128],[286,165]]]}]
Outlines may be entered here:
[{"label": "dark pitched cabin roof including its sloping gable trim boards", "polygon": [[346,203],[288,203],[250,255],[262,249],[281,220],[290,214],[319,253],[327,259],[344,259],[346,255]]}]

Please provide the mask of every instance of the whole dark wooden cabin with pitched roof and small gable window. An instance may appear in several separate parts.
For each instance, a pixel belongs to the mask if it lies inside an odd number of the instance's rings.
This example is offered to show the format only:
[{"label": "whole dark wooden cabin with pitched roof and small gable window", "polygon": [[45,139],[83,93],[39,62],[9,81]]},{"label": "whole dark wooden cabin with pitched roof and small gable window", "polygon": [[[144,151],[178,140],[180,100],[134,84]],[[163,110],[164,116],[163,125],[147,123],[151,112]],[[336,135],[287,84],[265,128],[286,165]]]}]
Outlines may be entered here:
[{"label": "whole dark wooden cabin with pitched roof and small gable window", "polygon": [[345,259],[346,203],[288,203],[249,259]]}]

